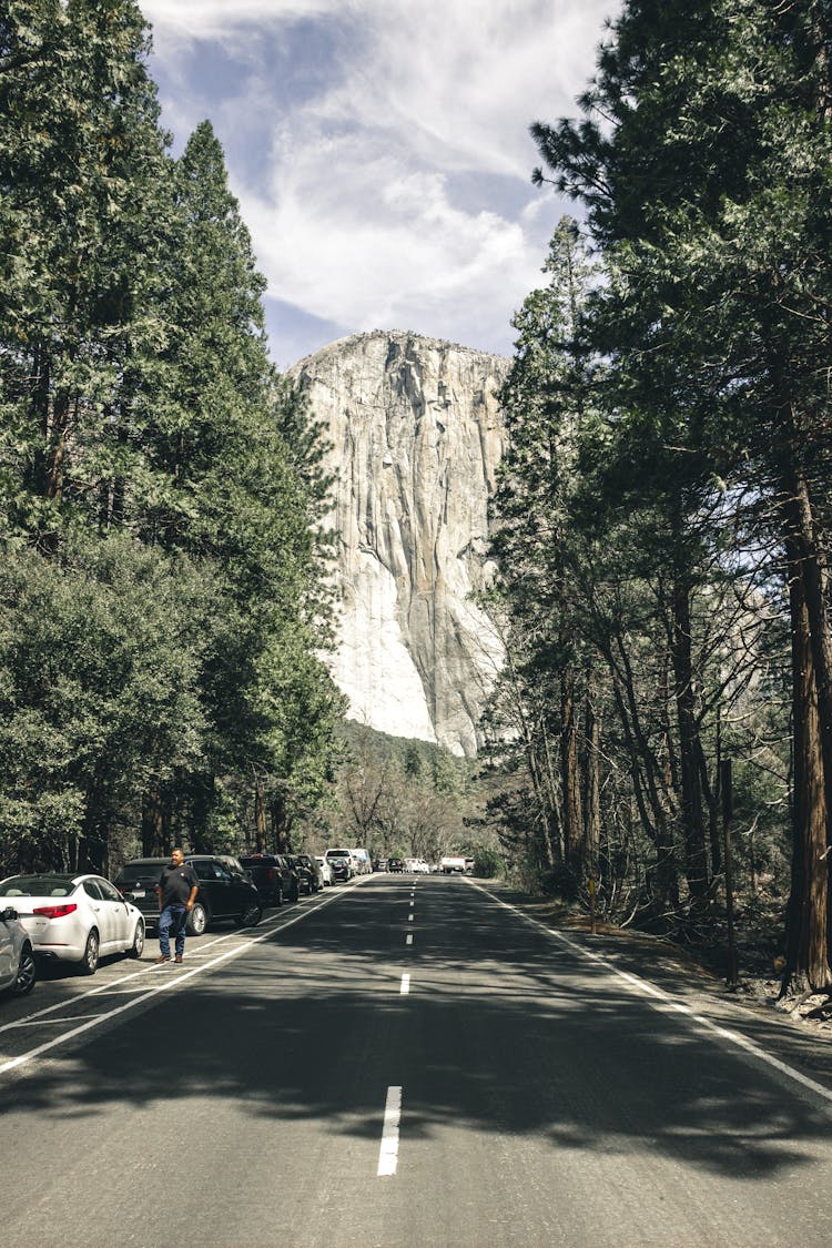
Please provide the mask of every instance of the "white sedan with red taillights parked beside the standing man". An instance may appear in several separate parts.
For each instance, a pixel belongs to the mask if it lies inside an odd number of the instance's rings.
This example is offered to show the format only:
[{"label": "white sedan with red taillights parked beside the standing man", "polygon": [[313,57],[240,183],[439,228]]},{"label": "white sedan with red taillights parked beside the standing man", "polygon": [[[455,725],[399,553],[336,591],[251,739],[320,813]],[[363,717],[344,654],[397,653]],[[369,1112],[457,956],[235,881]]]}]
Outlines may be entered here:
[{"label": "white sedan with red taillights parked beside the standing man", "polygon": [[85,975],[104,953],[141,957],[145,947],[141,911],[100,875],[12,875],[0,881],[4,905],[17,911],[39,957],[76,962]]}]

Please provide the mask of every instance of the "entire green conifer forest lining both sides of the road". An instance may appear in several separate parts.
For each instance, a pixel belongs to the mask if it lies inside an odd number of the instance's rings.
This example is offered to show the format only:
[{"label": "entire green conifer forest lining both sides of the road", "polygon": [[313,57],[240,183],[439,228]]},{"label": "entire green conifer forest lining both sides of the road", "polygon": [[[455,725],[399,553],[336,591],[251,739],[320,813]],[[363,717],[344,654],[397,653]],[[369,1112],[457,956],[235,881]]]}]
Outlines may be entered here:
[{"label": "entire green conifer forest lining both sides of the road", "polygon": [[2,865],[341,821],[691,942],[736,905],[830,988],[830,0],[627,0],[531,127],[575,212],[500,396],[478,775],[344,728],[323,431],[148,50],[131,0],[0,11]]}]

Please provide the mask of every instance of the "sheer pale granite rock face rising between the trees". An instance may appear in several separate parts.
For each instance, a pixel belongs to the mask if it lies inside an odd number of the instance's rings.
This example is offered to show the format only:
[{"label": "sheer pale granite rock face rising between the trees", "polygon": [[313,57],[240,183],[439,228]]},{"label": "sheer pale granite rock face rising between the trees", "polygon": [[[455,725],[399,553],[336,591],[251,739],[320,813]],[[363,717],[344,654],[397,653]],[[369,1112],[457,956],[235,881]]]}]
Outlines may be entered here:
[{"label": "sheer pale granite rock face rising between the trees", "polygon": [[488,499],[508,361],[414,333],[356,334],[291,376],[329,428],[339,645],[351,715],[473,755],[501,648],[470,600],[489,575]]}]

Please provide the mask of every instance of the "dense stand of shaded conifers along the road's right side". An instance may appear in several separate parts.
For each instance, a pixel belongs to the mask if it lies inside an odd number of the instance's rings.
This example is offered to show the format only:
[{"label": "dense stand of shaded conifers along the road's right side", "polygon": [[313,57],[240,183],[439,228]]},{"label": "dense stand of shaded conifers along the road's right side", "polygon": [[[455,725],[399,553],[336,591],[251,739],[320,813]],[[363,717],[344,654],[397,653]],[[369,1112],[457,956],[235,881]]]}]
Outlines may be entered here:
[{"label": "dense stand of shaded conifers along the road's right side", "polygon": [[736,900],[783,991],[832,985],[831,56],[827,2],[631,0],[534,124],[579,212],[495,508],[506,849],[682,938]]}]

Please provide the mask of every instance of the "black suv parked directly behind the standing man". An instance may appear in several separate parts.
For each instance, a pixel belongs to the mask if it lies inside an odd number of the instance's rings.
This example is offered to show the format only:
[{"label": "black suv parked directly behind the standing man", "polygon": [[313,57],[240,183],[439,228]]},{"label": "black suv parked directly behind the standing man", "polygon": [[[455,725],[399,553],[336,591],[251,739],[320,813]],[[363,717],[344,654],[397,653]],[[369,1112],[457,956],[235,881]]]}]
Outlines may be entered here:
[{"label": "black suv parked directly behind the standing man", "polygon": [[[239,927],[253,927],[263,914],[257,889],[239,859],[228,854],[186,854],[185,861],[196,871],[200,891],[188,915],[186,931],[201,936],[208,924],[233,919]],[[156,885],[170,859],[132,859],[115,879],[121,894],[145,916],[145,924],[158,922]]]}]

